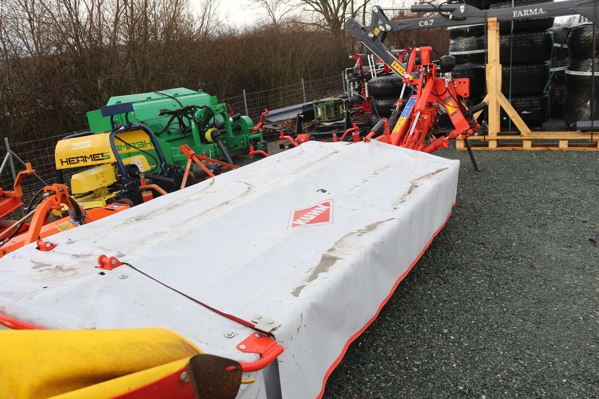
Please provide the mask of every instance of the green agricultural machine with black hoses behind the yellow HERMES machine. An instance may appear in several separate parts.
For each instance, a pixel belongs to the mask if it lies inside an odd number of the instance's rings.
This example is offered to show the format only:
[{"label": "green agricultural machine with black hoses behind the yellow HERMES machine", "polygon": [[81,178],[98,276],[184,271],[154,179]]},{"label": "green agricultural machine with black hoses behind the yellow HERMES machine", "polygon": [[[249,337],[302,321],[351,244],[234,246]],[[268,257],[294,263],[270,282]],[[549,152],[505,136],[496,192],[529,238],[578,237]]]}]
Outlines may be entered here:
[{"label": "green agricultural machine with black hoses behind the yellow HERMES machine", "polygon": [[[255,150],[268,151],[261,131],[255,129],[252,120],[240,114],[232,115],[225,103],[215,96],[199,90],[179,89],[111,97],[107,105],[132,103],[134,111],[129,114],[132,123],[146,124],[156,135],[158,144],[170,165],[185,167],[187,157],[179,147],[189,145],[197,154],[213,159],[225,159],[245,153],[253,146]],[[115,124],[126,124],[125,114],[114,115]],[[110,117],[103,117],[99,109],[87,112],[92,132],[111,130]],[[128,143],[136,150],[148,151],[150,142]]]}]

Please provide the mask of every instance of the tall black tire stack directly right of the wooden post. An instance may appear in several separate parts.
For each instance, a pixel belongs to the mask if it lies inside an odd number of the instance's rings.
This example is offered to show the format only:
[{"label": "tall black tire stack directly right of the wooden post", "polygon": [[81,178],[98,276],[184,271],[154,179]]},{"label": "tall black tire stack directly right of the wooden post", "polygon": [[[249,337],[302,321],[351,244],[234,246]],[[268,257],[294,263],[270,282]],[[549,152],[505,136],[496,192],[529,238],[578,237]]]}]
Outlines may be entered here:
[{"label": "tall black tire stack directly right of the wooden post", "polygon": [[[500,0],[497,8],[530,5],[539,7],[553,0]],[[512,26],[513,24],[513,26]],[[529,126],[541,126],[549,119],[549,59],[552,54],[553,18],[501,22],[500,62],[501,92],[510,100],[522,120]],[[510,118],[501,112],[501,126],[510,126]]]}]

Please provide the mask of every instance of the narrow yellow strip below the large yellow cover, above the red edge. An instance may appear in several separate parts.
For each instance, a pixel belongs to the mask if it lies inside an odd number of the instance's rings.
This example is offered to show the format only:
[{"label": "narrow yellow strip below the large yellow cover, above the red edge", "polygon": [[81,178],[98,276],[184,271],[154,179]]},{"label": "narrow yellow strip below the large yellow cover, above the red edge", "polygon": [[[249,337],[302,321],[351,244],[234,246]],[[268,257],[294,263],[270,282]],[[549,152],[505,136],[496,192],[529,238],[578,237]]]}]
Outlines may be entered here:
[{"label": "narrow yellow strip below the large yellow cover, above the red edge", "polygon": [[184,358],[171,363],[138,371],[112,380],[104,381],[86,388],[77,389],[66,394],[53,396],[49,399],[110,399],[141,388],[163,377],[175,373],[189,364],[190,358]]}]

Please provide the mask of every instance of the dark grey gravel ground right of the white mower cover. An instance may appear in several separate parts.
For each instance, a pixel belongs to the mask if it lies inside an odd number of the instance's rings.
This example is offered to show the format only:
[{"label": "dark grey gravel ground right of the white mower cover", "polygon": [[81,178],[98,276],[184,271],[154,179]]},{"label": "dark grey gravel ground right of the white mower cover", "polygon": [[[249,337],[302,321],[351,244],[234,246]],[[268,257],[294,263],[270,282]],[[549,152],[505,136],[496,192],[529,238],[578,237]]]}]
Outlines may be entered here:
[{"label": "dark grey gravel ground right of the white mower cover", "polygon": [[453,215],[324,397],[599,398],[599,153],[436,154]]}]

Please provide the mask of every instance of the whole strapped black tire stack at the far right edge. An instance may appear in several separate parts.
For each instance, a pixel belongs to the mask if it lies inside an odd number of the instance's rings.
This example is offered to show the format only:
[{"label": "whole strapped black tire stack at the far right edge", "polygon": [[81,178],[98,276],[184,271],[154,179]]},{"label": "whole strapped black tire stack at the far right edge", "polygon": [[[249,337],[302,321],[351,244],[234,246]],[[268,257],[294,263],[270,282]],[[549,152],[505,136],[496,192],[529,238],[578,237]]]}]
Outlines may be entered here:
[{"label": "whole strapped black tire stack at the far right edge", "polygon": [[[595,42],[599,47],[599,29],[595,30]],[[566,126],[570,130],[576,130],[577,121],[591,120],[591,98],[593,119],[599,119],[599,51],[593,51],[592,41],[592,23],[574,26],[568,36],[570,60],[565,71],[564,114]]]}]

